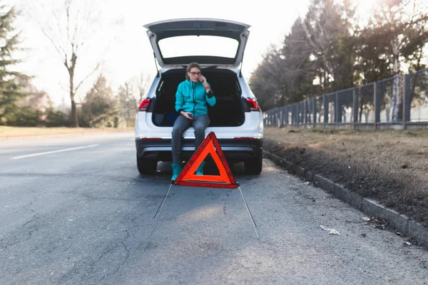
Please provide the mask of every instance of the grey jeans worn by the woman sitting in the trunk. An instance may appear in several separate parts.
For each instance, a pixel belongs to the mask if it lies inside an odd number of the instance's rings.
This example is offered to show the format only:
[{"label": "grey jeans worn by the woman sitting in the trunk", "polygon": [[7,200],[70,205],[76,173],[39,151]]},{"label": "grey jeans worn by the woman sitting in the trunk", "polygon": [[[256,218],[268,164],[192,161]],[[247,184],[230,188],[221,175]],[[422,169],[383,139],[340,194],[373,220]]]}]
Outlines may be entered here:
[{"label": "grey jeans worn by the woman sitting in the trunk", "polygon": [[185,130],[190,128],[193,125],[195,128],[195,150],[205,139],[205,128],[207,128],[210,123],[210,118],[208,115],[197,115],[193,117],[193,120],[188,120],[184,118],[183,115],[179,115],[174,122],[173,126],[173,140],[171,142],[172,152],[173,152],[173,163],[180,162],[180,153],[181,153],[181,142],[183,138],[183,133]]}]

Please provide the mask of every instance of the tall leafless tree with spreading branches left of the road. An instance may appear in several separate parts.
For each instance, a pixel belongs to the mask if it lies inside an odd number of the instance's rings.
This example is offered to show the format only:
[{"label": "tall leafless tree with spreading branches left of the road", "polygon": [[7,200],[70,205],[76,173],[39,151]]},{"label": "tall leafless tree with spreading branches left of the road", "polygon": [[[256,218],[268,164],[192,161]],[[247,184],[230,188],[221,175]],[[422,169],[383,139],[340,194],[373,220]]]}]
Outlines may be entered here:
[{"label": "tall leafless tree with spreading branches left of the road", "polygon": [[[58,5],[59,3],[59,5]],[[87,52],[89,41],[96,38],[99,19],[95,1],[78,2],[76,0],[52,1],[51,5],[38,4],[32,8],[34,18],[41,32],[48,38],[57,51],[68,73],[68,94],[71,100],[72,126],[78,128],[78,115],[75,95],[83,82],[101,66],[101,60],[93,63],[86,76],[76,76],[78,58]],[[98,53],[99,54],[99,53]]]}]

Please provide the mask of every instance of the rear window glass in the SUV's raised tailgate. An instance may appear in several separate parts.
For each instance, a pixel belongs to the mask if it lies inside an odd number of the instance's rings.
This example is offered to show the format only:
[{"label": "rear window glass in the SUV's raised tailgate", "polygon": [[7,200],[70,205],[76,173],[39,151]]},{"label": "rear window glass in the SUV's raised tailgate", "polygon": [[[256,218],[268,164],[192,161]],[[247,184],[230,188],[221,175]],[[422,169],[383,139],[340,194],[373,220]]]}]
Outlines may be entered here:
[{"label": "rear window glass in the SUV's raised tailgate", "polygon": [[163,58],[220,56],[235,58],[239,42],[223,36],[174,36],[158,42]]}]

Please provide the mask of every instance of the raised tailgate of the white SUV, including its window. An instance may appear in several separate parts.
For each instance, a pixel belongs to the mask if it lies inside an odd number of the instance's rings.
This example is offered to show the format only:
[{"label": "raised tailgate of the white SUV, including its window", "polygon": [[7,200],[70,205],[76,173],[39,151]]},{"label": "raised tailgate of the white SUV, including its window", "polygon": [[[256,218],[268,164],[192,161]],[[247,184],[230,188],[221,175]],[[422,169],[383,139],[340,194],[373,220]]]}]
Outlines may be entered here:
[{"label": "raised tailgate of the white SUV, including its window", "polygon": [[233,66],[243,61],[250,25],[223,19],[173,19],[144,26],[162,68]]}]

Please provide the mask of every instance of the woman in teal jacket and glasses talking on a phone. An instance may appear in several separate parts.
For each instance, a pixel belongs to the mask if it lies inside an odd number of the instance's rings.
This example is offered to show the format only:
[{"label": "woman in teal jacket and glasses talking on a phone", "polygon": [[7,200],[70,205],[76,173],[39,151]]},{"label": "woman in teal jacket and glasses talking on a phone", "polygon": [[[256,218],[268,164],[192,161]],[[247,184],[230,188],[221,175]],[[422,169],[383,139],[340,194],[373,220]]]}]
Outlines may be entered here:
[{"label": "woman in teal jacket and glasses talking on a phone", "polygon": [[[193,125],[196,150],[205,139],[205,128],[210,123],[207,103],[210,106],[215,105],[215,96],[205,77],[200,74],[199,64],[190,63],[185,71],[185,81],[178,85],[177,93],[175,93],[175,110],[180,115],[175,120],[171,142],[173,152],[172,180],[175,180],[181,172],[180,153],[183,133]],[[198,167],[196,175],[203,175],[204,164],[205,162],[202,162]]]}]

